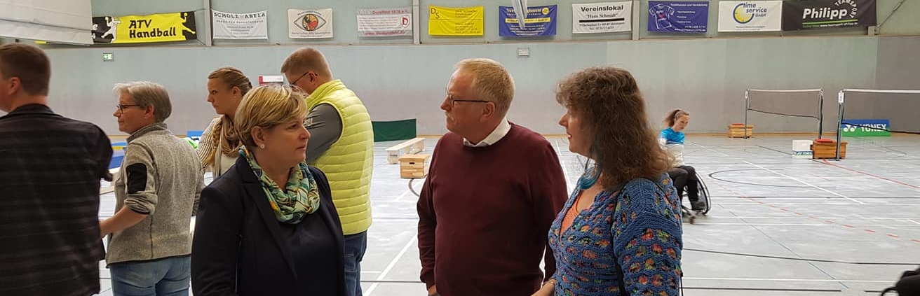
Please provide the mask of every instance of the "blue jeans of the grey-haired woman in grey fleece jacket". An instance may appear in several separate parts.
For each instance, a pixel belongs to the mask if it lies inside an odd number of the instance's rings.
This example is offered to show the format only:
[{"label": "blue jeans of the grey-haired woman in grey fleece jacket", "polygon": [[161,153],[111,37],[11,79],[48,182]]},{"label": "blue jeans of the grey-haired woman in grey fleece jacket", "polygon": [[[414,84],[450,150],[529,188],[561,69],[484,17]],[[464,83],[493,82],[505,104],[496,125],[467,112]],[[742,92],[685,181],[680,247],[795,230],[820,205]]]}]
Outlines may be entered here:
[{"label": "blue jeans of the grey-haired woman in grey fleece jacket", "polygon": [[109,266],[115,296],[188,296],[191,256]]}]

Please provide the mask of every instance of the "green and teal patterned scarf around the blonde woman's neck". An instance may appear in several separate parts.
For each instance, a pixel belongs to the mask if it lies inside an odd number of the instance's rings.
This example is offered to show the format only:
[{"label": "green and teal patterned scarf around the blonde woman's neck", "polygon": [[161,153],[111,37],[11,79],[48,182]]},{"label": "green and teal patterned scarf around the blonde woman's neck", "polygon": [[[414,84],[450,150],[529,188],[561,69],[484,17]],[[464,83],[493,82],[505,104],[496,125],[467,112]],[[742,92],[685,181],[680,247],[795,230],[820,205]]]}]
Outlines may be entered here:
[{"label": "green and teal patterned scarf around the blonde woman's neck", "polygon": [[316,180],[313,179],[305,162],[301,162],[292,170],[284,186],[287,189],[285,192],[269,176],[265,175],[262,167],[256,163],[255,157],[246,147],[239,149],[239,155],[246,157],[249,166],[252,166],[252,171],[259,177],[262,189],[269,198],[271,210],[275,212],[275,219],[278,219],[278,222],[296,224],[303,220],[306,214],[319,209],[319,188],[316,187]]}]

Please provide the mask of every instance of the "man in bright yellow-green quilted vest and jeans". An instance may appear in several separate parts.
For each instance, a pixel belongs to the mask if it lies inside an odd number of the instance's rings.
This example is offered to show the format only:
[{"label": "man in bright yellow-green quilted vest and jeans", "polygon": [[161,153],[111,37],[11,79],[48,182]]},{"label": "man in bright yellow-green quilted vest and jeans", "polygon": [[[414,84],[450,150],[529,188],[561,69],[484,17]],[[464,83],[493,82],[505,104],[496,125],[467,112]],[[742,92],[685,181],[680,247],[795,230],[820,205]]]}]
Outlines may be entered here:
[{"label": "man in bright yellow-green quilted vest and jeans", "polygon": [[361,296],[361,260],[371,227],[371,170],[374,130],[358,98],[334,79],[323,53],[314,48],[293,51],[282,64],[291,85],[310,95],[305,126],[310,131],[306,161],[326,174],[345,236],[345,291]]}]

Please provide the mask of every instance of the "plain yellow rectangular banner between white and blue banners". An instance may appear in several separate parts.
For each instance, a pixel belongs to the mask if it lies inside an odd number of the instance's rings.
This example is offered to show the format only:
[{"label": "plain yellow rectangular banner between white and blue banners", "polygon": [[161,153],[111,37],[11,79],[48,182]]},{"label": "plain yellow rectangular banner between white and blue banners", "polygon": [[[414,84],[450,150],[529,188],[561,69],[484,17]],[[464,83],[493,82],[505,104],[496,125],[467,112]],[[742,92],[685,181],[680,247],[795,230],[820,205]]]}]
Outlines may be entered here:
[{"label": "plain yellow rectangular banner between white and blue banners", "polygon": [[428,16],[428,35],[482,36],[485,31],[483,6],[441,7],[431,6]]}]

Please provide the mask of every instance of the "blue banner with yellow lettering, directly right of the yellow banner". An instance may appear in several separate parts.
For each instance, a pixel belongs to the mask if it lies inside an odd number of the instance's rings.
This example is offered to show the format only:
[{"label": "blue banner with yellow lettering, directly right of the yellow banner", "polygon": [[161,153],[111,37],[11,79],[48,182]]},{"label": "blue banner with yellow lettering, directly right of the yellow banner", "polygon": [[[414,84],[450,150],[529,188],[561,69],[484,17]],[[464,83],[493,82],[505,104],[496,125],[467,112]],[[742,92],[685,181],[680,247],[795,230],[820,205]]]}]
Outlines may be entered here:
[{"label": "blue banner with yellow lettering, directly right of the yellow banner", "polygon": [[500,37],[556,35],[556,6],[528,6],[523,24],[521,28],[512,6],[499,6]]}]

